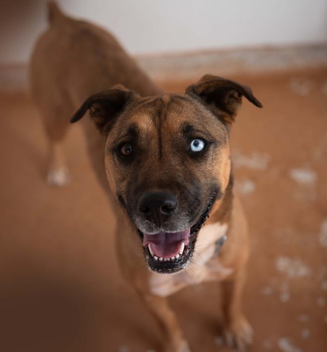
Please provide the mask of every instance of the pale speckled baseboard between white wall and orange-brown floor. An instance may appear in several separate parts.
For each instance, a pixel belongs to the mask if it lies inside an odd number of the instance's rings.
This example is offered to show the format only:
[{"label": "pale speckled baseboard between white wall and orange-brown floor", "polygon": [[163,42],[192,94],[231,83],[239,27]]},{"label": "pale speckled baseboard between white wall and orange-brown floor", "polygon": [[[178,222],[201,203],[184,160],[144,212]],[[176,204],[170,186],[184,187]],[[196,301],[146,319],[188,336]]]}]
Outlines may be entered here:
[{"label": "pale speckled baseboard between white wall and orange-brown floor", "polygon": [[[197,80],[206,73],[258,74],[327,66],[327,44],[143,55],[135,59],[156,81]],[[0,65],[1,91],[27,89],[27,63]]]}]

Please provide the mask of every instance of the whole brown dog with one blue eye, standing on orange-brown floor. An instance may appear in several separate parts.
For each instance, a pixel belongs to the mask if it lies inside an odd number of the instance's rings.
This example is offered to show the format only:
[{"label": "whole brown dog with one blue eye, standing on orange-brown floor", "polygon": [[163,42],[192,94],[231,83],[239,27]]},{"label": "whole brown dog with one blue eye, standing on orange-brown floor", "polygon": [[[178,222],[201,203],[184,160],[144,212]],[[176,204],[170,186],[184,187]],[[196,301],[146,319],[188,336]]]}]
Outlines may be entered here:
[{"label": "whole brown dog with one blue eye, standing on orange-brown floor", "polygon": [[233,191],[229,131],[242,96],[261,103],[249,87],[211,75],[184,94],[163,94],[109,33],[54,3],[49,19],[31,60],[50,142],[48,181],[68,181],[62,139],[70,117],[89,112],[82,121],[90,159],[122,218],[121,271],[161,322],[165,351],[188,351],[165,297],[214,280],[222,281],[225,340],[244,348],[252,340],[241,308],[248,234]]}]

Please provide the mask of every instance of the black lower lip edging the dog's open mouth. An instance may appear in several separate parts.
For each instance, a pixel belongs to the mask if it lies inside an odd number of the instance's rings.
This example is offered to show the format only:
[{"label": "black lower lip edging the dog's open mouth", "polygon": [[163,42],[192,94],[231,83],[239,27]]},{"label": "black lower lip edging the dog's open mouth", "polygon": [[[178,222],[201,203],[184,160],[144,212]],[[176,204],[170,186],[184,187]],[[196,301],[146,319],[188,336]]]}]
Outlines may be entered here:
[{"label": "black lower lip edging the dog's open mouth", "polygon": [[[149,269],[160,274],[171,274],[176,273],[187,266],[194,252],[197,235],[210,216],[210,211],[216,201],[217,194],[217,191],[213,193],[206,210],[199,217],[198,221],[191,227],[189,244],[185,246],[183,255],[180,258],[175,259],[173,262],[160,262],[152,257],[148,247],[143,247],[145,260]],[[137,229],[137,232],[143,242],[143,233],[139,229]]]}]

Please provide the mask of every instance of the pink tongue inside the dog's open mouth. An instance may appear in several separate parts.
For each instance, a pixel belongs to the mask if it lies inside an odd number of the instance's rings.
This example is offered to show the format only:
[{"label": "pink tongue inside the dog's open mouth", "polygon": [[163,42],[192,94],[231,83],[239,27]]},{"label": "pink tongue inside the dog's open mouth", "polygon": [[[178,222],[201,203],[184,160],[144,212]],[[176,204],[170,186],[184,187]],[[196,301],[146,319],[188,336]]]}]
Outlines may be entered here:
[{"label": "pink tongue inside the dog's open mouth", "polygon": [[151,243],[153,253],[159,258],[174,257],[182,244],[189,243],[190,230],[187,229],[181,232],[159,232],[158,234],[144,234],[143,245],[146,247]]}]

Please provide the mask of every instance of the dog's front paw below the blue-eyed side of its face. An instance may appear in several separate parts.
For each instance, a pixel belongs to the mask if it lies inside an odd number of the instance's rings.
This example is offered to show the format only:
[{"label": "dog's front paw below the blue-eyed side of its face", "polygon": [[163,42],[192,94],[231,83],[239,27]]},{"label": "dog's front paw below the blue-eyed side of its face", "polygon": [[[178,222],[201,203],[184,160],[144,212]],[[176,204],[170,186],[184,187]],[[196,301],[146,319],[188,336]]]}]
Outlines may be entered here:
[{"label": "dog's front paw below the blue-eyed side of its face", "polygon": [[225,344],[238,351],[245,351],[253,342],[253,329],[247,319],[241,316],[222,333]]}]

